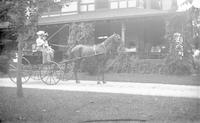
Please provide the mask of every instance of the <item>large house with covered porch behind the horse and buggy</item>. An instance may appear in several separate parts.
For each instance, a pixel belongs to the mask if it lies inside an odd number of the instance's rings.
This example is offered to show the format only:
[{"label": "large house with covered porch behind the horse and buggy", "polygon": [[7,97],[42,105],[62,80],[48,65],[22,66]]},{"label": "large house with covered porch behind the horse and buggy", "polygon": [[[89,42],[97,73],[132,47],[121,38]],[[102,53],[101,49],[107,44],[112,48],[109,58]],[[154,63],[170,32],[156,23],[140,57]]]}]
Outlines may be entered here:
[{"label": "large house with covered porch behind the horse and buggy", "polygon": [[[99,43],[112,33],[121,35],[127,48],[136,48],[143,56],[162,45],[166,18],[174,14],[176,0],[54,0],[62,7],[49,7],[39,18],[39,29],[54,35],[65,24],[92,22],[95,41]],[[50,41],[66,44],[69,27],[61,29]]]}]

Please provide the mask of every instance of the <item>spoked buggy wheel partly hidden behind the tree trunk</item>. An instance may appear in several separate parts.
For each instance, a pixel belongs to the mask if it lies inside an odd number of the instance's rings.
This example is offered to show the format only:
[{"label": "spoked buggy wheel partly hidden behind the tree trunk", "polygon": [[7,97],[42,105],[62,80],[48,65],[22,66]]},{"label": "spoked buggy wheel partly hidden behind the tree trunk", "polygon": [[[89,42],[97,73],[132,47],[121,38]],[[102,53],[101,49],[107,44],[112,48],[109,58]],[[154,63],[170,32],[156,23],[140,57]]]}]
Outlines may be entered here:
[{"label": "spoked buggy wheel partly hidden behind the tree trunk", "polygon": [[[32,68],[30,62],[25,57],[22,57],[22,84],[25,84],[30,79],[32,74],[31,69]],[[10,62],[8,76],[12,82],[14,82],[15,84],[17,83],[17,62]]]}]

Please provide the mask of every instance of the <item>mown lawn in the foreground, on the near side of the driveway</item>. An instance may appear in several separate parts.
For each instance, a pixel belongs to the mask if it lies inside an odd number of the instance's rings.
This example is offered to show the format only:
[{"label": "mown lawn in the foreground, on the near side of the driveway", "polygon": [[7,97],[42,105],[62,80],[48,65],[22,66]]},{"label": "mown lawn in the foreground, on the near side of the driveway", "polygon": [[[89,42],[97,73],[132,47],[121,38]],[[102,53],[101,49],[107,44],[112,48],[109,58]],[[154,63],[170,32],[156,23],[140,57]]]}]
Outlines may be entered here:
[{"label": "mown lawn in the foreground, on the near side of the driveway", "polygon": [[0,88],[4,123],[199,123],[200,100]]}]

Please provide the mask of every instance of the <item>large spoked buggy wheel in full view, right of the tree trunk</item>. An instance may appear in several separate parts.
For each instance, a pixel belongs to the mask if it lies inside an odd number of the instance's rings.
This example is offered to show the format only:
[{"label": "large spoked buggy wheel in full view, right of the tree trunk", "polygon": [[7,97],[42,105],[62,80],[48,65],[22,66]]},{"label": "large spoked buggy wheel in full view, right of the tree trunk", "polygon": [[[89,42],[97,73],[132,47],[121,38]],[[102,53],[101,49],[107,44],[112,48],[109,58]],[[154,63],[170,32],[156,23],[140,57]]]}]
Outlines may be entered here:
[{"label": "large spoked buggy wheel in full view, right of the tree trunk", "polygon": [[63,75],[56,62],[49,61],[41,66],[40,79],[47,85],[56,85]]}]

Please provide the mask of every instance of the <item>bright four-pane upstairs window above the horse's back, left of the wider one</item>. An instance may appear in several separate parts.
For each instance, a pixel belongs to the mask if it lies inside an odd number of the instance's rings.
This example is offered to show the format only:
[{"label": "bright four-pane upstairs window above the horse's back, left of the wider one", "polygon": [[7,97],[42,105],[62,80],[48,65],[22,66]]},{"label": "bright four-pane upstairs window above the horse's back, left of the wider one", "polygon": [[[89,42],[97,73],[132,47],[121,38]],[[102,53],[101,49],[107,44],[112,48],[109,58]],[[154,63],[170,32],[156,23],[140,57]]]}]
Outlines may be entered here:
[{"label": "bright four-pane upstairs window above the horse's back, left of the wider one", "polygon": [[95,10],[95,0],[81,0],[80,1],[80,11],[94,11]]}]

